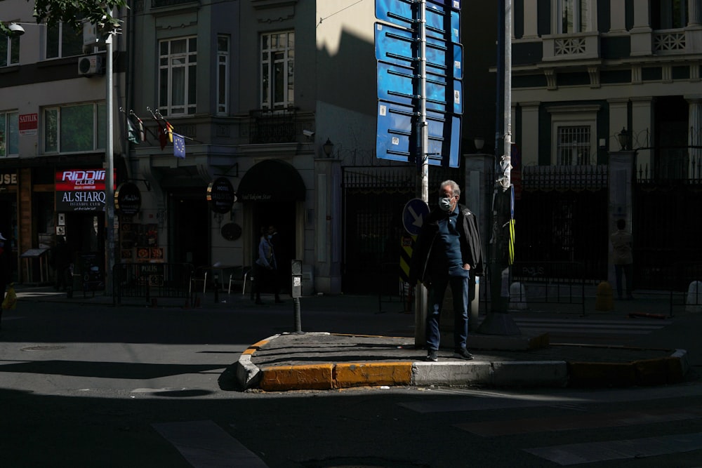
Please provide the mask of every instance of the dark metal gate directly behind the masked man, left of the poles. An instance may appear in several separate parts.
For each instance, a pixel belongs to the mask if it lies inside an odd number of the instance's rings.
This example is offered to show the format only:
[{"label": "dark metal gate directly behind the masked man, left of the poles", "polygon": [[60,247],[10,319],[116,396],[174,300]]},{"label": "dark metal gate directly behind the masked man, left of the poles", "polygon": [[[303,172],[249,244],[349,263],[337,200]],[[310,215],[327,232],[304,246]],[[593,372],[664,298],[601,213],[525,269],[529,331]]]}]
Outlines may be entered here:
[{"label": "dark metal gate directly behind the masked man, left of the poles", "polygon": [[[343,271],[345,293],[399,295],[402,210],[416,198],[413,166],[343,166]],[[463,171],[430,167],[430,205],[439,184],[452,179],[463,187]]]}]

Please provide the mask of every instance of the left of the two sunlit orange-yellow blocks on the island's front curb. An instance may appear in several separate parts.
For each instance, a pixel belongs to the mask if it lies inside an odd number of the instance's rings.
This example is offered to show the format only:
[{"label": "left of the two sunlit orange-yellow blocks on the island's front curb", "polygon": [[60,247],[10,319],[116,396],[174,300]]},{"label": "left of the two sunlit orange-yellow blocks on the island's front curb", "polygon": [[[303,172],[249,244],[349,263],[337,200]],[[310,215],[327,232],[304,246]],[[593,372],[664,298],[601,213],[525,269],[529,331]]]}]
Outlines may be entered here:
[{"label": "left of the two sunlit orange-yellow blocks on the island's front curb", "polygon": [[258,387],[269,392],[282,390],[333,389],[333,364],[310,366],[268,366],[261,368]]}]

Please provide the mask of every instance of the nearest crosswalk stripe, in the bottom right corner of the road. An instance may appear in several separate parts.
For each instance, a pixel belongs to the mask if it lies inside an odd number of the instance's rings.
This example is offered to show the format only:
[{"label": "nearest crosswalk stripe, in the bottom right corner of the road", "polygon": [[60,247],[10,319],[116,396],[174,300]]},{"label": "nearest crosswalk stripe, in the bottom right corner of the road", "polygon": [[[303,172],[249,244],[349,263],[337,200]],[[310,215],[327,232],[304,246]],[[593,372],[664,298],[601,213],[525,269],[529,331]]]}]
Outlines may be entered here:
[{"label": "nearest crosswalk stripe, in the bottom right corner of the road", "polygon": [[702,449],[702,433],[655,436],[644,439],[569,443],[525,448],[524,451],[560,465],[628,460]]}]

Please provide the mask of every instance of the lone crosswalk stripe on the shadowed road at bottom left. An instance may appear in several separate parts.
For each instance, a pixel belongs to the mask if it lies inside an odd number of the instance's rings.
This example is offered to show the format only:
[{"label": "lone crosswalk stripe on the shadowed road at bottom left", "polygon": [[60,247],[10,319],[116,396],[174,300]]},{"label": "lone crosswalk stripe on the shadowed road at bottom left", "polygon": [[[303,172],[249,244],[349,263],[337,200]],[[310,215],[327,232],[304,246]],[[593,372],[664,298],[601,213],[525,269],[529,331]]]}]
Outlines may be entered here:
[{"label": "lone crosswalk stripe on the shadowed road at bottom left", "polygon": [[267,468],[255,453],[212,421],[159,422],[152,427],[194,468]]}]

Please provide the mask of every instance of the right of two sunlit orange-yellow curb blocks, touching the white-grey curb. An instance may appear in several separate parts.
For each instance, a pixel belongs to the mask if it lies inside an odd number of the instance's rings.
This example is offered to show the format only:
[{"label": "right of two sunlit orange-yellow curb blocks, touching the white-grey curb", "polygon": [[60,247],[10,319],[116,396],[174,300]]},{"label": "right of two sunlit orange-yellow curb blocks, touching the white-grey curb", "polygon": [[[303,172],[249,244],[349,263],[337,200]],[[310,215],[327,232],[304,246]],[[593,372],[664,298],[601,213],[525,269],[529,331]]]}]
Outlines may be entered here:
[{"label": "right of two sunlit orange-yellow curb blocks, touching the white-grey curb", "polygon": [[410,385],[411,362],[343,363],[334,368],[336,388],[363,385]]}]

